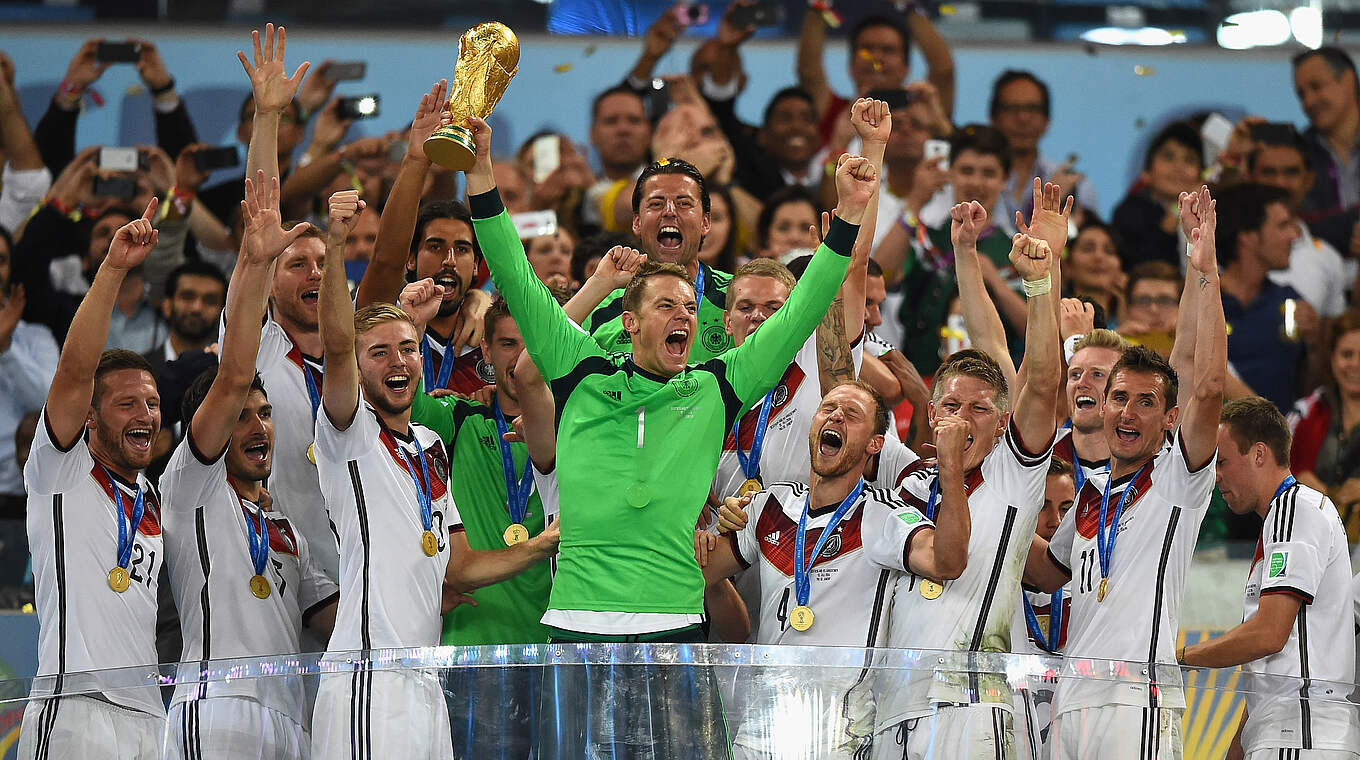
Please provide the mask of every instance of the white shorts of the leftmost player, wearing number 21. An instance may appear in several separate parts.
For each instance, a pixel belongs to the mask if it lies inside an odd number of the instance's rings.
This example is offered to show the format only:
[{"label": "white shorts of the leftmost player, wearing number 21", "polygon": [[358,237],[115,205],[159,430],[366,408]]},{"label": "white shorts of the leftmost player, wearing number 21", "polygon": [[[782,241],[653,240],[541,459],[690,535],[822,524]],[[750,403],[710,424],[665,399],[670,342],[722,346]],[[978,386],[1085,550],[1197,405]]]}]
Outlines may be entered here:
[{"label": "white shorts of the leftmost player, wearing number 21", "polygon": [[34,699],[23,708],[20,760],[158,760],[165,718],[94,696]]}]

